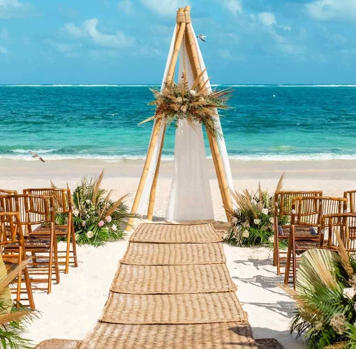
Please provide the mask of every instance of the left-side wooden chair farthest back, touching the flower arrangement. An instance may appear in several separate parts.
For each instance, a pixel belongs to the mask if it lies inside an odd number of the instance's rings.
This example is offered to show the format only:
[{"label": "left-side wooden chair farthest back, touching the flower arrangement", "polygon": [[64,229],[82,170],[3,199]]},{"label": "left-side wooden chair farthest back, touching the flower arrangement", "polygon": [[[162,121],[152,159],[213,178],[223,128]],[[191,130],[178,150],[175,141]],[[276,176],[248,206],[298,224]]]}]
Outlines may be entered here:
[{"label": "left-side wooden chair farthest back, touching the flower arrangement", "polygon": [[[73,224],[73,207],[71,190],[59,189],[59,188],[28,188],[24,189],[24,194],[30,195],[45,195],[52,196],[54,198],[54,214],[56,216],[61,215],[62,219],[66,221],[65,224],[56,224],[54,227],[56,237],[64,237],[67,240],[66,251],[58,251],[58,258],[64,259],[65,262],[59,262],[59,264],[65,264],[65,274],[69,270],[70,253],[73,253],[74,267],[77,267],[77,246],[75,243],[75,230]],[[62,222],[61,222],[62,223]],[[48,225],[42,225],[34,233],[39,237],[48,237],[50,235],[50,227]],[[72,251],[71,251],[71,239],[72,239]],[[65,253],[65,255],[63,255]]]}]

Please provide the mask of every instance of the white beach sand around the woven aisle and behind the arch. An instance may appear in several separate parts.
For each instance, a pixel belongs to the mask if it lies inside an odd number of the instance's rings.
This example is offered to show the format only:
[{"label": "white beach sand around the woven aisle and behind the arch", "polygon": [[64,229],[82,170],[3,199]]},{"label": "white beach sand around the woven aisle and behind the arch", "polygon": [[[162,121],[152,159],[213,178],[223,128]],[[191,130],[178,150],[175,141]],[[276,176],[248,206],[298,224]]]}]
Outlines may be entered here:
[{"label": "white beach sand around the woven aisle and behind the arch", "polygon": [[[73,188],[83,174],[95,174],[105,166],[107,175],[103,186],[114,189],[114,198],[133,193],[138,186],[140,162],[103,163],[101,161],[52,161],[45,166],[39,162],[1,161],[0,188],[20,191],[27,187],[48,186],[49,180],[58,186],[66,181]],[[163,163],[162,178],[158,181],[155,216],[162,219],[170,188],[172,163]],[[262,188],[273,191],[281,172],[286,170],[285,189],[323,190],[326,195],[343,195],[343,191],[356,188],[355,161],[322,162],[235,162],[232,163],[235,189]],[[212,175],[212,168],[209,172]],[[214,215],[225,220],[218,185],[211,179]],[[61,283],[53,285],[52,294],[35,292],[40,318],[29,325],[27,336],[34,341],[43,339],[83,339],[94,327],[107,299],[110,283],[118,262],[126,250],[127,241],[107,244],[105,247],[80,247],[80,265],[71,268],[68,275],[61,274]],[[292,319],[291,299],[283,294],[272,266],[271,252],[266,248],[237,248],[225,245],[227,265],[232,280],[238,285],[237,296],[249,320],[255,338],[276,338],[285,348],[302,348],[302,342],[289,336],[288,324]]]}]

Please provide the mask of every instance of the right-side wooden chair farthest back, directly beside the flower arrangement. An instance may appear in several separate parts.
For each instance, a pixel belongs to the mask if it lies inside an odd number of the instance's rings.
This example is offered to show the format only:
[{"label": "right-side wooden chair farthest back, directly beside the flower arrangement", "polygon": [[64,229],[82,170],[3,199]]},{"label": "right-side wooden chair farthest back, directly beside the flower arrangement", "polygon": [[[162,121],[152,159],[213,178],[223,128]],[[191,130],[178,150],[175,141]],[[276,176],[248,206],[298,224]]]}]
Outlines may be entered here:
[{"label": "right-side wooden chair farthest back, directly beside the flower arrangement", "polygon": [[[322,191],[276,191],[274,194],[274,266],[277,267],[278,275],[283,274],[281,267],[286,261],[286,252],[280,251],[279,243],[289,237],[292,200],[308,196],[322,196]],[[287,218],[289,224],[280,224],[282,218],[283,221]]]}]

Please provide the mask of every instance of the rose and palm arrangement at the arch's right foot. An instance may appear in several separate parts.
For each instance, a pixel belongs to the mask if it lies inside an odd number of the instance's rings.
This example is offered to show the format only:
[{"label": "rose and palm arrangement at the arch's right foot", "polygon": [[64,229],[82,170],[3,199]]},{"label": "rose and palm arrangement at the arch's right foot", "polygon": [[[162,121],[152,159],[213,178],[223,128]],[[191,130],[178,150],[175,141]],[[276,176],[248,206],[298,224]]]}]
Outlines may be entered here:
[{"label": "rose and palm arrangement at the arch's right foot", "polygon": [[[283,177],[279,179],[276,191],[281,191]],[[225,242],[234,246],[265,245],[273,248],[274,244],[274,194],[262,191],[258,183],[257,192],[232,192],[238,209],[229,210],[230,227]],[[288,223],[285,216],[279,217],[279,224]],[[281,248],[285,248],[284,241]]]}]

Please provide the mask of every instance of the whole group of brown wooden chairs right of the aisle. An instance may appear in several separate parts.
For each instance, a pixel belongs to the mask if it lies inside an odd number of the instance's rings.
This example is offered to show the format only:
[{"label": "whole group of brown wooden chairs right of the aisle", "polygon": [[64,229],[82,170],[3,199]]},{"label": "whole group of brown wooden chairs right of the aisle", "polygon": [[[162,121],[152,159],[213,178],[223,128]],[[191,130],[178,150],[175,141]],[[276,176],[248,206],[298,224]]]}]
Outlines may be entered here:
[{"label": "whole group of brown wooden chairs right of the aisle", "polygon": [[[339,239],[350,253],[356,252],[356,191],[343,198],[322,195],[322,191],[279,191],[274,196],[274,265],[285,274],[288,284],[292,269],[295,287],[299,255],[312,248],[337,251]],[[287,224],[280,224],[282,221]],[[288,244],[288,250],[281,243]]]}]

